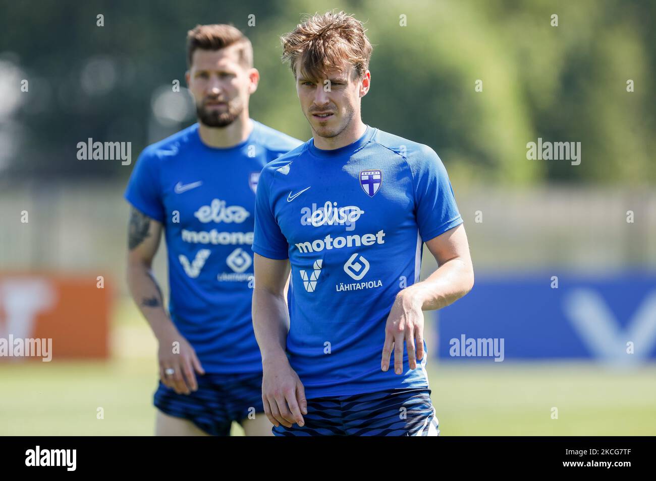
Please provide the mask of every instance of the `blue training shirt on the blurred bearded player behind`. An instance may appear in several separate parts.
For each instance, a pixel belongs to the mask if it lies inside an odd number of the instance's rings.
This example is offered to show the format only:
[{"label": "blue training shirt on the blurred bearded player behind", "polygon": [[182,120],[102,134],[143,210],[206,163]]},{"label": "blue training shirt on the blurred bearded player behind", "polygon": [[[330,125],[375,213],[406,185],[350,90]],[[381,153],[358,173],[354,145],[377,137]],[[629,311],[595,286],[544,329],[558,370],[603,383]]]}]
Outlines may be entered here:
[{"label": "blue training shirt on the blurred bearded player behind", "polygon": [[149,145],[125,198],[163,224],[169,312],[206,372],[260,372],[253,332],[255,191],[262,167],[302,142],[253,122],[234,147],[205,145],[194,124]]}]

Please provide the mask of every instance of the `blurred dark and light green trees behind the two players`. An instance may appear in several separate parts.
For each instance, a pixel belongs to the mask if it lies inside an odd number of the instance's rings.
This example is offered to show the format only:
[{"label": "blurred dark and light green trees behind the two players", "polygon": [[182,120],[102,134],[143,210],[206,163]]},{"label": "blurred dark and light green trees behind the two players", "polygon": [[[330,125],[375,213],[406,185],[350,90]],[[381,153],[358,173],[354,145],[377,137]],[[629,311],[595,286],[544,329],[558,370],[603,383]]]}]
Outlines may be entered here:
[{"label": "blurred dark and light green trees behind the two players", "polygon": [[[440,154],[459,186],[656,182],[653,1],[0,1],[0,177],[125,181],[77,143],[138,153],[194,122],[186,31],[232,23],[253,41],[251,116],[310,137],[279,35],[344,9],[375,45],[363,119]],[[96,15],[104,26],[96,26]],[[249,15],[255,26],[249,26]],[[558,14],[558,27],[551,26]],[[400,26],[405,15],[407,26]],[[29,81],[29,92],[20,81]],[[475,92],[476,80],[483,92]],[[634,92],[626,91],[628,79]],[[581,142],[582,161],[527,160],[526,143]]]}]

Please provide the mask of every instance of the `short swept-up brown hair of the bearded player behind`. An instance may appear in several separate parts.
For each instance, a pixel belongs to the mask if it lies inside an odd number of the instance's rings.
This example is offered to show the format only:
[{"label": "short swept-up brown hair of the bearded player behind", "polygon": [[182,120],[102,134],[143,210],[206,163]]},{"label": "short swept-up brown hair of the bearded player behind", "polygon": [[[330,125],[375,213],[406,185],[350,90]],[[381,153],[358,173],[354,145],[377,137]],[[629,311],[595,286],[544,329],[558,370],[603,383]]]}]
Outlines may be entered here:
[{"label": "short swept-up brown hair of the bearded player behind", "polygon": [[220,50],[237,44],[242,44],[239,48],[239,62],[245,67],[253,67],[253,45],[239,29],[226,24],[197,25],[187,32],[187,66],[192,67],[197,48]]}]

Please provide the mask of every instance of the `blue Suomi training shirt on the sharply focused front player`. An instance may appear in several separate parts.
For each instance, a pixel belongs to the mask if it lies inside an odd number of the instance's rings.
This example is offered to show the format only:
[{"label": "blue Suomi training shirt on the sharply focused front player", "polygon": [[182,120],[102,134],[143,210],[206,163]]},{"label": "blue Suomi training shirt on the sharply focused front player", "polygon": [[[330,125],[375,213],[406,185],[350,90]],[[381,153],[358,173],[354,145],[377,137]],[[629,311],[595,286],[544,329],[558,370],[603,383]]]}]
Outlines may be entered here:
[{"label": "blue Suomi training shirt on the sharply focused front player", "polygon": [[396,294],[419,281],[423,241],[462,223],[438,155],[367,126],[332,151],[313,139],[260,175],[253,251],[289,258],[287,355],[308,399],[428,387],[426,356],[380,370]]}]

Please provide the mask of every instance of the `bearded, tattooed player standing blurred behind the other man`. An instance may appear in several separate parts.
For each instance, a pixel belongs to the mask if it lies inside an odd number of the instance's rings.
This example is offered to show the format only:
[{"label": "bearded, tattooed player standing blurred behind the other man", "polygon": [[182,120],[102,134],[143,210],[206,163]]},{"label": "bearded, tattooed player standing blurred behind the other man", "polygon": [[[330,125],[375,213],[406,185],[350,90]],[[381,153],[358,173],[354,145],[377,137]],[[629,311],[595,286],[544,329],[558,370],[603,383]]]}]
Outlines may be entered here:
[{"label": "bearded, tattooed player standing blurred behind the other man", "polygon": [[[156,435],[271,435],[251,299],[255,191],[262,167],[301,142],[249,117],[253,47],[229,25],[187,35],[198,122],[144,149],[131,204],[130,292],[159,342]],[[152,274],[165,233],[169,313]]]}]

